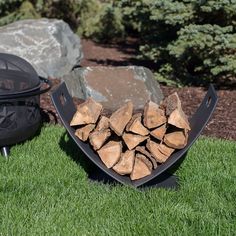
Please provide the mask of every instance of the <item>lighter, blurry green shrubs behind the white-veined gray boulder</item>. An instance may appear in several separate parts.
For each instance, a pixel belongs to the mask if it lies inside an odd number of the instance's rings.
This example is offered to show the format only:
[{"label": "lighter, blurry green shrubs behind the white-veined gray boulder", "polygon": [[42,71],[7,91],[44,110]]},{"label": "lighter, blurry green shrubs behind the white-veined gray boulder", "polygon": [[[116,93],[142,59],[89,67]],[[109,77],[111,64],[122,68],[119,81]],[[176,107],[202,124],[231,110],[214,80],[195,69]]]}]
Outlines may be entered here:
[{"label": "lighter, blurry green shrubs behind the white-veined gray boulder", "polygon": [[112,0],[0,0],[0,26],[29,18],[58,18],[97,41],[123,38],[121,9]]}]

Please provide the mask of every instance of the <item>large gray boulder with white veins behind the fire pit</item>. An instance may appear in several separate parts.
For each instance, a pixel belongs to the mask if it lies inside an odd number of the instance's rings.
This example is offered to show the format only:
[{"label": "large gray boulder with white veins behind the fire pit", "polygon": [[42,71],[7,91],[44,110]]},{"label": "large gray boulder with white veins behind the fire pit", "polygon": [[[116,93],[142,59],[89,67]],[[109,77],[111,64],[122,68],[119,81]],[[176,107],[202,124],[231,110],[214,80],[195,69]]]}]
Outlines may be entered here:
[{"label": "large gray boulder with white veins behind the fire pit", "polygon": [[0,52],[26,59],[39,75],[61,77],[82,59],[80,38],[57,19],[22,20],[0,27]]}]

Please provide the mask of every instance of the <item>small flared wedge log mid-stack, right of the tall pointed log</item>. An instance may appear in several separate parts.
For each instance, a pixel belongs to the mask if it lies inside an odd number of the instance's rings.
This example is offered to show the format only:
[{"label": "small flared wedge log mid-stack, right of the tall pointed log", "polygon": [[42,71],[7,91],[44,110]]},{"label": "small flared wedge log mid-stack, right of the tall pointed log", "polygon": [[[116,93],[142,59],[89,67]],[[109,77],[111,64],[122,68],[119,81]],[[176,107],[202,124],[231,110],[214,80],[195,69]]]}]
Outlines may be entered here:
[{"label": "small flared wedge log mid-stack, right of the tall pointed log", "polygon": [[142,119],[141,113],[137,113],[133,115],[132,119],[129,121],[129,123],[126,126],[126,131],[143,135],[143,136],[148,135],[149,130],[143,126],[141,119]]}]

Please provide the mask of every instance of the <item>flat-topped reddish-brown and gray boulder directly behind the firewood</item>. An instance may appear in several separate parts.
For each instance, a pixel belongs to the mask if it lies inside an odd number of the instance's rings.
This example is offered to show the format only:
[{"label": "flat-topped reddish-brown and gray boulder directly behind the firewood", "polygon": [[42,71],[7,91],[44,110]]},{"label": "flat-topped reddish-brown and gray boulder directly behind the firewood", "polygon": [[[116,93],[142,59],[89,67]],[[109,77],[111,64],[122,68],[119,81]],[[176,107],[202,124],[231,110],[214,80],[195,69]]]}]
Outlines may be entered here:
[{"label": "flat-topped reddish-brown and gray boulder directly behind the firewood", "polygon": [[163,94],[152,72],[141,66],[84,67],[63,76],[71,96],[93,97],[105,109],[114,111],[128,100],[136,111],[151,100],[160,103]]}]

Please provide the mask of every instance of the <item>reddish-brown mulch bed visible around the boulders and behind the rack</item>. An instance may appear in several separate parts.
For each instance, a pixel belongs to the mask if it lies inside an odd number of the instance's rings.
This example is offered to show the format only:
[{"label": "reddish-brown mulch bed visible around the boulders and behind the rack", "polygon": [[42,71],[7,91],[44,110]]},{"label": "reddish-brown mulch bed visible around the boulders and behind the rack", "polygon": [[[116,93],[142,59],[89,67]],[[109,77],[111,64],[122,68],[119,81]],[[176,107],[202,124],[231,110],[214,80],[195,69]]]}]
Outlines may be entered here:
[{"label": "reddish-brown mulch bed visible around the boulders and behind the rack", "polygon": [[[90,40],[82,40],[84,59],[82,66],[125,66],[143,65],[153,68],[154,65],[135,59],[136,44],[134,39],[129,39],[123,44],[96,44]],[[54,86],[60,80],[52,80]],[[181,98],[183,109],[188,116],[191,116],[201,103],[207,88],[203,87],[184,87],[174,88],[161,86],[165,96],[172,92],[177,92]],[[217,89],[219,102],[214,115],[207,127],[203,131],[204,135],[236,140],[236,90]],[[51,104],[48,94],[41,96],[41,107],[43,118],[46,122],[57,123],[59,121],[55,108]]]}]

